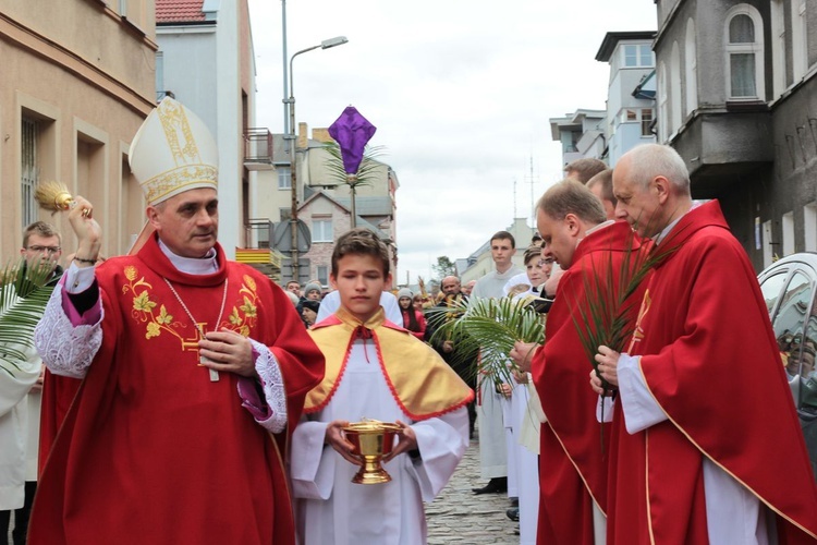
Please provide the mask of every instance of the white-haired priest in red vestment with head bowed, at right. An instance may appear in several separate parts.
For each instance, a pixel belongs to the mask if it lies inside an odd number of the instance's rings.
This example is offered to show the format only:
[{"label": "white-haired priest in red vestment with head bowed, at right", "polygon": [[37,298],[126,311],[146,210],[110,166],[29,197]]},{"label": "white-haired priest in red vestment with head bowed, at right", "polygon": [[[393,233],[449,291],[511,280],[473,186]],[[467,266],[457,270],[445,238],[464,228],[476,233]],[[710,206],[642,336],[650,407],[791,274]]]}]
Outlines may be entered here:
[{"label": "white-haired priest in red vestment with head bowed, at right", "polygon": [[[618,384],[608,543],[814,543],[817,486],[755,271],[683,159],[648,144],[613,171],[617,214],[666,258]],[[598,382],[592,379],[598,389]]]}]

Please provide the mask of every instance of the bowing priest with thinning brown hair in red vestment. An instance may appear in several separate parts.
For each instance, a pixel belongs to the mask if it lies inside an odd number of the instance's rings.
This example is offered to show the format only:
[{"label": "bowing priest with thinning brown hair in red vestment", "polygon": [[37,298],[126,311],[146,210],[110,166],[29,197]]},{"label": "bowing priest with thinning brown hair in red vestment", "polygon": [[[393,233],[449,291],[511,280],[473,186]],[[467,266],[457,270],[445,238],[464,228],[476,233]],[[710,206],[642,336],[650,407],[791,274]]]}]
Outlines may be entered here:
[{"label": "bowing priest with thinning brown hair in red vestment", "polygon": [[[598,397],[587,388],[593,367],[577,331],[580,308],[587,312],[588,283],[617,289],[627,252],[639,244],[626,222],[607,220],[599,199],[573,180],[542,195],[537,228],[544,255],[565,270],[545,324],[546,342],[531,362],[547,417],[540,434],[537,543],[593,545],[605,532],[607,446],[601,441],[610,432],[601,429]],[[610,270],[615,280],[607,286]],[[511,355],[524,362],[529,350],[517,343]]]}]

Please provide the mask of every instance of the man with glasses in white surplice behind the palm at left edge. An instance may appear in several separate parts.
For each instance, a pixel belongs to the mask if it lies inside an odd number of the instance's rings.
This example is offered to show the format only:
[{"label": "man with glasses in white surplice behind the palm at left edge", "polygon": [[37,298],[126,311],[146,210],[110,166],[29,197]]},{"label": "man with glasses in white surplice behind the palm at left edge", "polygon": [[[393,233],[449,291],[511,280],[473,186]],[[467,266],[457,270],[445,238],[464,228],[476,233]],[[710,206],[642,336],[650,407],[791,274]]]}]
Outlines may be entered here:
[{"label": "man with glasses in white surplice behind the palm at left edge", "polygon": [[[62,249],[60,233],[45,221],[35,221],[23,231],[20,254],[26,266],[50,262],[50,282],[62,276],[58,265]],[[0,535],[9,533],[14,510],[15,544],[25,543],[28,513],[37,488],[42,360],[33,348],[25,349],[25,365],[13,374],[0,372]]]}]

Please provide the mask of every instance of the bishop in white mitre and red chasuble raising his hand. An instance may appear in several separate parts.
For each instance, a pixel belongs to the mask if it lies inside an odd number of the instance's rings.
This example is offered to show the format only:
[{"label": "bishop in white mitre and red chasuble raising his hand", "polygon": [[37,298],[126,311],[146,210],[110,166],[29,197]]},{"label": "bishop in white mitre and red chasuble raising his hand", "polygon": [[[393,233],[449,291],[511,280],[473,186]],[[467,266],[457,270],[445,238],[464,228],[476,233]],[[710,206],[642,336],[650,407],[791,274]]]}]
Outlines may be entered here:
[{"label": "bishop in white mitre and red chasuble raising his hand", "polygon": [[36,332],[49,370],[83,382],[28,543],[294,545],[284,457],[324,358],[283,291],[217,243],[202,120],[164,99],[130,160],[155,232],[97,266],[101,229],[76,197],[76,257]]}]

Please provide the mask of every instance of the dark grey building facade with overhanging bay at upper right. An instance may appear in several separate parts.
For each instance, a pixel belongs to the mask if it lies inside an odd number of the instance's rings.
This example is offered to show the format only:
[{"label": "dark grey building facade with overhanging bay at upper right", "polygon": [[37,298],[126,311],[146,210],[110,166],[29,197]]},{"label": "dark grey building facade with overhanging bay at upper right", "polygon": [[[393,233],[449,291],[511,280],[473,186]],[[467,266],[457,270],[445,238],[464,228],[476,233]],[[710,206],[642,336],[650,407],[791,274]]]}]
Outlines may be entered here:
[{"label": "dark grey building facade with overhanging bay at upper right", "polygon": [[[725,16],[739,3],[753,5],[763,20],[763,28],[756,28],[756,33],[764,41],[760,90],[766,104],[754,110],[736,108],[736,101],[728,100]],[[779,2],[776,5],[781,7]],[[693,197],[720,201],[732,232],[756,270],[775,257],[817,251],[817,116],[810,120],[810,112],[817,111],[817,83],[814,69],[806,70],[801,80],[793,76],[791,4],[782,7],[785,40],[781,52],[776,51],[780,29],[772,28],[775,5],[768,1],[659,2],[659,22],[661,14],[672,12],[668,25],[659,26],[659,59],[668,62],[678,43],[682,66],[687,62],[683,45],[690,17],[694,19],[697,37],[698,109],[684,120],[683,132],[672,144],[693,167]],[[807,58],[813,62],[817,8],[807,2],[805,15],[809,27]],[[686,93],[684,70],[680,72],[680,88]],[[781,77],[783,88],[775,84]],[[764,110],[766,105],[768,111]],[[700,169],[702,179],[695,169],[703,164],[707,168]]]}]

